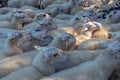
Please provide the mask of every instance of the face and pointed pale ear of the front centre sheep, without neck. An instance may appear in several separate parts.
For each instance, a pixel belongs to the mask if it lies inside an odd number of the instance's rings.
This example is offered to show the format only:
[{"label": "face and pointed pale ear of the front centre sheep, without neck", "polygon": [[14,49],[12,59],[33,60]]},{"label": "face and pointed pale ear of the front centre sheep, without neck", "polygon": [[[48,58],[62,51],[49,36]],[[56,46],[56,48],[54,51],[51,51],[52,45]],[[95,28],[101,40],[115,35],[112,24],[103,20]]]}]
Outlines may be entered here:
[{"label": "face and pointed pale ear of the front centre sheep, without neck", "polygon": [[62,50],[55,48],[55,47],[39,47],[35,46],[37,50],[40,51],[40,53],[43,53],[43,62],[53,62],[53,61],[66,61],[67,55],[63,53]]}]

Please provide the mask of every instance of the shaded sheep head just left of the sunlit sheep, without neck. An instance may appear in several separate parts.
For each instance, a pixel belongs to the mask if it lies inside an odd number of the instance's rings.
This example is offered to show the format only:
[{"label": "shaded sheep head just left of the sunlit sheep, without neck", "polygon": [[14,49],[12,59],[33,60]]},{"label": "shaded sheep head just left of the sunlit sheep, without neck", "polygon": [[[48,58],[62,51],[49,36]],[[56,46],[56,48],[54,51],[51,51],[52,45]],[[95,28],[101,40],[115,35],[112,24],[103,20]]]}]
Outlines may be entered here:
[{"label": "shaded sheep head just left of the sunlit sheep, without neck", "polygon": [[57,38],[58,45],[61,46],[62,50],[69,50],[71,46],[73,46],[76,42],[75,37],[70,33],[61,33],[58,35],[54,35],[54,38]]}]

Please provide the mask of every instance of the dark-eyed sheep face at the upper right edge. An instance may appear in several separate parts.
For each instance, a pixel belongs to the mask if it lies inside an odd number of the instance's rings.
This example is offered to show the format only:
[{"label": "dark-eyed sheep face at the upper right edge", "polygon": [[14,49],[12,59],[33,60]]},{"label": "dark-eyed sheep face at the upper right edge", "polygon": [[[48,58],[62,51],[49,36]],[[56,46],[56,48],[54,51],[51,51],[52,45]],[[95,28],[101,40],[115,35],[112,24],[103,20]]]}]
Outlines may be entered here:
[{"label": "dark-eyed sheep face at the upper right edge", "polygon": [[111,11],[106,16],[107,23],[118,23],[120,21],[120,10]]}]

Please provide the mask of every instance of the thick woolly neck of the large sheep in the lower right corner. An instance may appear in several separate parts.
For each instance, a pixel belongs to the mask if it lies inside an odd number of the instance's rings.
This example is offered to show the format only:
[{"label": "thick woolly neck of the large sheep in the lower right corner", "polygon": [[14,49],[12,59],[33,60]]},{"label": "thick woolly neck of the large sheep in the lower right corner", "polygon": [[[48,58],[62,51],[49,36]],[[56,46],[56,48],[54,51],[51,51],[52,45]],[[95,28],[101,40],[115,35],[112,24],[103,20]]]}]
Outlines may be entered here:
[{"label": "thick woolly neck of the large sheep in the lower right corner", "polygon": [[113,70],[116,69],[118,62],[120,62],[120,59],[116,60],[113,55],[110,55],[110,53],[110,50],[105,49],[104,52],[95,60],[106,79],[108,79]]}]

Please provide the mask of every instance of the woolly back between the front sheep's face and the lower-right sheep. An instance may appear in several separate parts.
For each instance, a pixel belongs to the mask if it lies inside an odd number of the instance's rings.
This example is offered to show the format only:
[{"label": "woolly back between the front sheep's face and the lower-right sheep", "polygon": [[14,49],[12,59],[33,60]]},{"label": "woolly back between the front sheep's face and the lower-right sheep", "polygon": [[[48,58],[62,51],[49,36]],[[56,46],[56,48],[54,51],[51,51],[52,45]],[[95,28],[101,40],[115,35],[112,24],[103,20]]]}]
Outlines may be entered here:
[{"label": "woolly back between the front sheep's face and the lower-right sheep", "polygon": [[77,66],[86,61],[90,61],[95,59],[98,55],[101,54],[103,50],[97,51],[85,51],[85,50],[73,50],[73,51],[62,51],[62,53],[66,54],[68,59],[64,62],[54,61],[55,71],[59,72],[61,70],[65,70],[74,66]]}]

